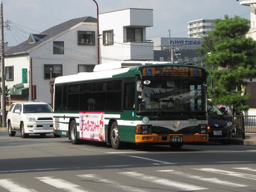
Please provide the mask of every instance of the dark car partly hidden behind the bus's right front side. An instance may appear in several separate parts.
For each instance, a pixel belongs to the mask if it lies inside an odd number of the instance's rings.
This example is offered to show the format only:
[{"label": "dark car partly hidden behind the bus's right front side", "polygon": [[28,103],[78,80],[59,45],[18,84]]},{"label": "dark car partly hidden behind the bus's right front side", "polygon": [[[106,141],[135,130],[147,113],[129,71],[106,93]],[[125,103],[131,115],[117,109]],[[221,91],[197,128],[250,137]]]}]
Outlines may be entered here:
[{"label": "dark car partly hidden behind the bus's right front side", "polygon": [[207,112],[208,124],[211,127],[209,132],[209,141],[218,140],[223,145],[228,145],[231,140],[235,139],[235,127],[227,117],[210,102],[207,103]]}]

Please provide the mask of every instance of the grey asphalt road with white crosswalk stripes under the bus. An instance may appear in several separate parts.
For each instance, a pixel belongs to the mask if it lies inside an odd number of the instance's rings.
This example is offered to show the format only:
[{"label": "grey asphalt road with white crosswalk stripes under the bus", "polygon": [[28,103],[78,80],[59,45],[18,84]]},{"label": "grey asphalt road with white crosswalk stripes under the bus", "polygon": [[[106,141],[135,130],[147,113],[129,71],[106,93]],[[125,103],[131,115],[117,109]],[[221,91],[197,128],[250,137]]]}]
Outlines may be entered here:
[{"label": "grey asphalt road with white crosswalk stripes under the bus", "polygon": [[0,191],[256,191],[256,147],[72,145],[0,131]]}]

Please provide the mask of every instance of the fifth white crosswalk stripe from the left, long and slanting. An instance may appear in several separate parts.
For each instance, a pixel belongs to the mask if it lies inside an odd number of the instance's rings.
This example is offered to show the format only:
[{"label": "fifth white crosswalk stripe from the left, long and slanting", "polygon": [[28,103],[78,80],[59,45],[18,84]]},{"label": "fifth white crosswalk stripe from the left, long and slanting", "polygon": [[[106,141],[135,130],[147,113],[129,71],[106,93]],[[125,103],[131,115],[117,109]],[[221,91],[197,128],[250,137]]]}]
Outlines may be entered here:
[{"label": "fifth white crosswalk stripe from the left, long and slanting", "polygon": [[218,178],[205,178],[205,177],[200,177],[197,175],[193,175],[193,174],[188,174],[188,173],[184,173],[184,172],[180,172],[180,171],[174,171],[174,170],[157,170],[159,172],[168,172],[171,174],[176,174],[182,177],[186,177],[189,179],[196,179],[196,180],[200,180],[200,181],[206,181],[206,182],[210,182],[210,183],[215,183],[218,185],[224,185],[224,186],[230,186],[230,187],[247,187],[246,185],[242,185],[242,184],[238,184],[235,182],[229,182],[229,181],[222,181],[219,180]]}]

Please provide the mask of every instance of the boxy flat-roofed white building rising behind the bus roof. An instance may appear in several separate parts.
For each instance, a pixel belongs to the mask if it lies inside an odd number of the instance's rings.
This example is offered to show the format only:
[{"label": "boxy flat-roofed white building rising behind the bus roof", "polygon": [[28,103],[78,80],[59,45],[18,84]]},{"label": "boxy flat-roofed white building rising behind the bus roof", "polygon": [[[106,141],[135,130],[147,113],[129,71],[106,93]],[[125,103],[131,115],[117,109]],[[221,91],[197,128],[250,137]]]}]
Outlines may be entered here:
[{"label": "boxy flat-roofed white building rising behind the bus roof", "polygon": [[125,9],[102,13],[100,22],[101,63],[113,60],[153,60],[153,42],[146,28],[153,26],[153,10]]}]

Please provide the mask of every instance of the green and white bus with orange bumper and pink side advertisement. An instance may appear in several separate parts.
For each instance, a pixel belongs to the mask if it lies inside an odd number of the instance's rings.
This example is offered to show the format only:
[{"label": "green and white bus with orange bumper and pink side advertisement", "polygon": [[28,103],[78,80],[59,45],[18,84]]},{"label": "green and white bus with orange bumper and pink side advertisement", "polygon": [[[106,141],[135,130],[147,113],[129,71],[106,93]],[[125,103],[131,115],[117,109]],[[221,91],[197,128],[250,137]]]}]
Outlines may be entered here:
[{"label": "green and white bus with orange bumper and pink side advertisement", "polygon": [[181,148],[207,142],[204,68],[165,62],[101,64],[54,82],[53,132],[81,140]]}]

